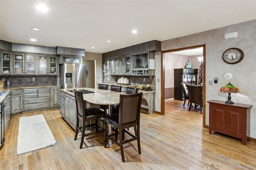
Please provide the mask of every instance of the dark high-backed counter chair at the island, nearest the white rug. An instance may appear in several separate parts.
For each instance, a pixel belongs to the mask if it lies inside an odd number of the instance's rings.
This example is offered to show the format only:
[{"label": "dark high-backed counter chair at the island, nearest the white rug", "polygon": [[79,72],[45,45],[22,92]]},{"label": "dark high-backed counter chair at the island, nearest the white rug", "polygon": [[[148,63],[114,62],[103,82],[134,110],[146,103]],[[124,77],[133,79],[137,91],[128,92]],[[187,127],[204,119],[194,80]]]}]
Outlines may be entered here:
[{"label": "dark high-backed counter chair at the island, nearest the white rug", "polygon": [[[104,118],[106,115],[106,112],[98,109],[98,108],[90,108],[86,109],[85,101],[83,98],[83,93],[82,91],[74,89],[75,97],[76,97],[76,134],[75,134],[75,139],[77,138],[78,132],[81,133],[81,143],[80,143],[80,149],[83,146],[84,143],[84,137],[91,135],[91,134],[98,134],[99,132],[103,132],[103,128],[98,126],[98,119]],[[79,121],[81,121],[81,125],[79,125]],[[86,121],[95,121],[95,123],[86,125]],[[88,132],[86,133],[85,130],[88,127],[94,127],[96,128],[95,132]],[[101,130],[99,130],[99,128]]]}]

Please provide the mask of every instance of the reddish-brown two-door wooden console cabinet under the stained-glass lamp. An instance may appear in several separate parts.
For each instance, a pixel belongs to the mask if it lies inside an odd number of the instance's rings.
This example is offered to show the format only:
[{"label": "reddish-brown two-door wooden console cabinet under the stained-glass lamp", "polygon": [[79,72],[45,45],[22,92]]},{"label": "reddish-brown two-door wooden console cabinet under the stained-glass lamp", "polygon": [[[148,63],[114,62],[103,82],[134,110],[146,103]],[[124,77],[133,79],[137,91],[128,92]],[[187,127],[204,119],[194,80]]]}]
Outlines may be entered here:
[{"label": "reddish-brown two-door wooden console cabinet under the stained-glass lamp", "polygon": [[250,134],[250,108],[252,105],[234,103],[226,104],[225,101],[210,100],[209,106],[209,134],[212,131],[220,132],[242,139],[246,145]]}]

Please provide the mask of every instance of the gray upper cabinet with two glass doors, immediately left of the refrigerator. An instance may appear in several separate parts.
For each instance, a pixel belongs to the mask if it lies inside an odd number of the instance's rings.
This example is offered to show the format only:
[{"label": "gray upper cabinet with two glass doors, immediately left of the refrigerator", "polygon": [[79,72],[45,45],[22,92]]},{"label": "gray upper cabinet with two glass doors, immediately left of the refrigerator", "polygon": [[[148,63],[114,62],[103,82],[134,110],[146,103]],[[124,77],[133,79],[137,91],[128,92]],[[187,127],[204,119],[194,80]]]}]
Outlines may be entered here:
[{"label": "gray upper cabinet with two glass doors, immediately left of the refrigerator", "polygon": [[39,75],[57,75],[58,58],[56,56],[39,55],[38,56],[38,74]]}]

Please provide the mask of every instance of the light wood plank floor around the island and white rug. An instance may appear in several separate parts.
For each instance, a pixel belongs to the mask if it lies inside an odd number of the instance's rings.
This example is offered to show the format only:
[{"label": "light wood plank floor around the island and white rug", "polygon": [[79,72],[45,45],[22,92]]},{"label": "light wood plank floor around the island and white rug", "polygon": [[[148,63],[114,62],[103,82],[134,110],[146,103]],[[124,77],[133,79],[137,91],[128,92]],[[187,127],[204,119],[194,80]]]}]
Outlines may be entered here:
[{"label": "light wood plank floor around the island and white rug", "polygon": [[[80,138],[65,123],[59,110],[26,113],[11,118],[0,150],[1,170],[102,170],[102,169],[254,169],[256,143],[242,145],[241,140],[220,134],[208,134],[202,128],[199,109],[188,112],[182,101],[166,102],[164,116],[141,114],[141,154],[136,141],[124,145],[125,161],[114,144],[104,148],[103,134],[86,137],[82,149]],[[43,114],[56,145],[17,156],[19,118]],[[29,129],[28,129],[29,130]]]}]

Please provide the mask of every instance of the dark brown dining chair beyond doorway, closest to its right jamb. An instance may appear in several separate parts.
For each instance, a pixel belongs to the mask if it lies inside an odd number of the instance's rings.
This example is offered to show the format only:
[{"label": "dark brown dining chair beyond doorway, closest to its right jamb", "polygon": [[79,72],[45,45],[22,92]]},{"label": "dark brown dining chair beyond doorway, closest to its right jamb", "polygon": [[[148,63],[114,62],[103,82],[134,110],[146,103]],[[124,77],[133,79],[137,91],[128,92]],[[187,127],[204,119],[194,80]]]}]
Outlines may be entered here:
[{"label": "dark brown dining chair beyond doorway, closest to its right jamb", "polygon": [[202,85],[186,85],[186,87],[188,87],[189,102],[190,102],[188,111],[190,111],[190,109],[193,107],[192,103],[194,103],[195,109],[197,105],[200,105],[200,112],[202,114],[202,105],[203,105]]}]

